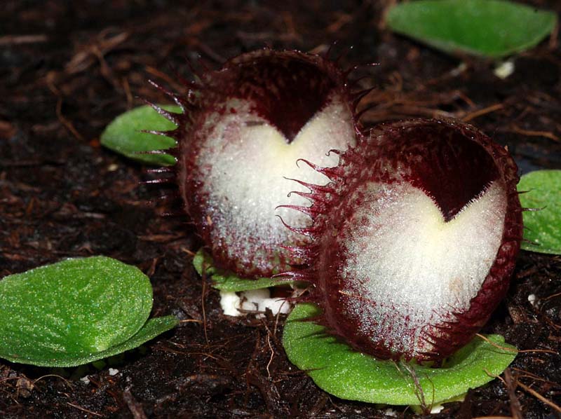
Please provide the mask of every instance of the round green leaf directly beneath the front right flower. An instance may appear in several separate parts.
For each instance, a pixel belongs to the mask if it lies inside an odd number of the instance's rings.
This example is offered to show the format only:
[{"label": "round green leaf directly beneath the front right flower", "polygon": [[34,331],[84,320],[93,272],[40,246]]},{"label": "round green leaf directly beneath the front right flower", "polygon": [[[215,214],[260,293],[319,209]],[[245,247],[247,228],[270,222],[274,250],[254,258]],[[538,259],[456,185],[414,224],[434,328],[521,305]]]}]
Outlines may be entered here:
[{"label": "round green leaf directly beneath the front right flower", "polygon": [[308,371],[323,390],[342,399],[431,405],[487,383],[516,356],[516,348],[504,343],[502,336],[490,335],[487,338],[496,346],[476,337],[441,368],[381,361],[326,335],[318,324],[302,322],[318,315],[318,310],[312,304],[297,305],[285,325],[283,345],[292,364]]}]

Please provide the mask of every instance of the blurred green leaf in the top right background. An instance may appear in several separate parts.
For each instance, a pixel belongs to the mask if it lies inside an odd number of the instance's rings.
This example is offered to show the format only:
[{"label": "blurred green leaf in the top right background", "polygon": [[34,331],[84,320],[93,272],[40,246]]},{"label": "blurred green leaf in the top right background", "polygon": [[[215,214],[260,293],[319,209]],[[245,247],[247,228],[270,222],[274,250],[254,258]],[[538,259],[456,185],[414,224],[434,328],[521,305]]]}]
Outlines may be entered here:
[{"label": "blurred green leaf in the top right background", "polygon": [[557,15],[502,0],[420,0],[391,8],[387,22],[446,53],[500,58],[536,46],[553,31]]}]

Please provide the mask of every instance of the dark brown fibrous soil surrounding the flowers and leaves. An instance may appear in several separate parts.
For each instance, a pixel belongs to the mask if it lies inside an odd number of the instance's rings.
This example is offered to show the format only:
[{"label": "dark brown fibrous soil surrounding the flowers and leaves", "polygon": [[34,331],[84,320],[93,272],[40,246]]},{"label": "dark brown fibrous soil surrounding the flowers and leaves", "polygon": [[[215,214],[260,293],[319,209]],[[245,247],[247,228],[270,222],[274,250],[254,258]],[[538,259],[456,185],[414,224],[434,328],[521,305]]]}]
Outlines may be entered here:
[{"label": "dark brown fibrous soil surrounding the flowers and leaves", "polygon": [[[133,263],[154,285],[153,315],[184,322],[109,364],[43,369],[0,363],[0,415],[20,417],[381,418],[386,408],[344,401],[286,359],[283,319],[221,314],[217,291],[194,273],[198,248],[187,219],[148,205],[158,188],[143,167],[103,149],[115,116],[164,102],[152,78],[178,92],[187,59],[217,67],[262,46],[325,52],[376,86],[366,124],[399,116],[471,121],[505,144],[521,172],[561,168],[561,47],[556,33],[494,64],[461,60],[391,34],[387,1],[2,1],[0,11],[0,277],[67,256],[104,254]],[[561,11],[555,0],[529,3]],[[349,46],[353,49],[349,50]],[[199,64],[196,64],[199,65]],[[199,67],[201,67],[199,65]],[[534,305],[528,296],[534,294]],[[524,352],[506,384],[494,380],[435,418],[560,413],[516,380],[561,404],[561,257],[522,252],[508,298],[485,327]],[[109,367],[119,370],[109,374]],[[114,372],[114,371],[113,371]],[[90,383],[79,378],[89,374]],[[396,409],[400,417],[414,413]]]}]

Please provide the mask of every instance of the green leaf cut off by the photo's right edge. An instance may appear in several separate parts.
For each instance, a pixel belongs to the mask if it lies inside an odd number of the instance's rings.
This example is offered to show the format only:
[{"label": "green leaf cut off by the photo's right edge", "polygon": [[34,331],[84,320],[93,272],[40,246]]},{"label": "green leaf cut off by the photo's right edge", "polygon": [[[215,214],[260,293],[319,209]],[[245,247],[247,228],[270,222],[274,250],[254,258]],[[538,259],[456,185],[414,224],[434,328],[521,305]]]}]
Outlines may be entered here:
[{"label": "green leaf cut off by the photo's right edge", "polygon": [[525,211],[522,249],[561,254],[561,170],[537,170],[520,178],[518,183]]}]

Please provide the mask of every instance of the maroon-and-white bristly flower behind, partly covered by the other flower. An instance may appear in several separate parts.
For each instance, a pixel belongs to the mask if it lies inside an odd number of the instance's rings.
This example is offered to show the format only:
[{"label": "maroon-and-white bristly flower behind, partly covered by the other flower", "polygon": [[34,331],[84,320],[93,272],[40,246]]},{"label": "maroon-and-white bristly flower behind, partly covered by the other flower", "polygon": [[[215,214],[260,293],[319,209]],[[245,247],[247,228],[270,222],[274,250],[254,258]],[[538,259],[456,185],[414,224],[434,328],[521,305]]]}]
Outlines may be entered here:
[{"label": "maroon-and-white bristly flower behind, partly covered by the other flower", "polygon": [[167,92],[183,114],[155,107],[177,125],[154,133],[177,141],[180,196],[217,266],[268,277],[289,267],[285,247],[305,244],[277,216],[311,225],[306,214],[280,207],[310,205],[288,196],[288,178],[328,182],[297,160],[332,167],[339,157],[327,151],[356,144],[356,104],[369,90],[351,91],[348,74],[320,55],[264,49],[202,74],[184,97]]}]

